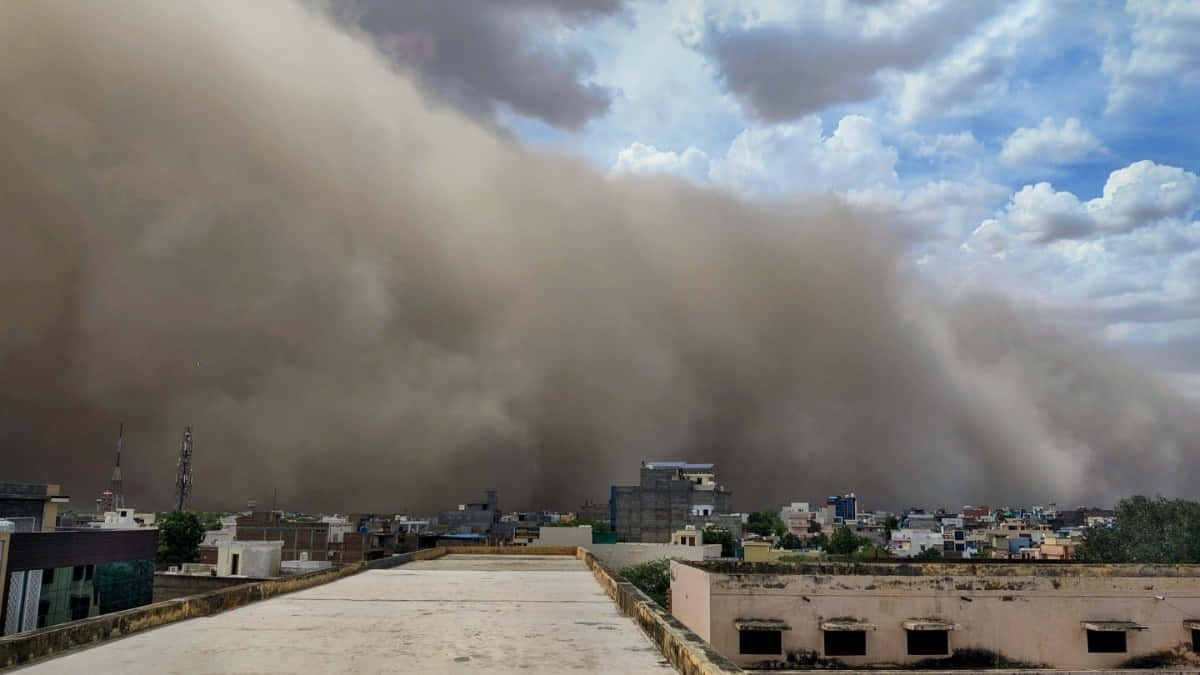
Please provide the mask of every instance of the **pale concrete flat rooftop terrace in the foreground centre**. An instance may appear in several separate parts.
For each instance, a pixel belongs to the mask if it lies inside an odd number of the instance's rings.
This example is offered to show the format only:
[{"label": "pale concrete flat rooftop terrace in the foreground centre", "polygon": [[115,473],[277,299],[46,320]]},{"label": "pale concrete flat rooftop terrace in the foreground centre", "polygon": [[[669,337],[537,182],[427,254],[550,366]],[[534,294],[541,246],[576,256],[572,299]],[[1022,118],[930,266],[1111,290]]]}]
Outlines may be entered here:
[{"label": "pale concrete flat rooftop terrace in the foreground centre", "polygon": [[20,673],[674,673],[587,566],[448,555],[367,571]]}]

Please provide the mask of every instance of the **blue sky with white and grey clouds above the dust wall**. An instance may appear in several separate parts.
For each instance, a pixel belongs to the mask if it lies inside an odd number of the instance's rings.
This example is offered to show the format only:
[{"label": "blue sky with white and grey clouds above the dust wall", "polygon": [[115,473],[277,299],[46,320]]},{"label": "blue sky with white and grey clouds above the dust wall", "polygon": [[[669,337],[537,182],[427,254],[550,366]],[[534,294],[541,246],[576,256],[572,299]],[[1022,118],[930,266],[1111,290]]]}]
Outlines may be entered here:
[{"label": "blue sky with white and grey clouds above the dust wall", "polygon": [[[437,46],[397,58],[527,145],[748,199],[834,191],[949,293],[1032,300],[1200,392],[1200,2],[470,6],[362,25]],[[438,42],[468,23],[479,44]]]}]

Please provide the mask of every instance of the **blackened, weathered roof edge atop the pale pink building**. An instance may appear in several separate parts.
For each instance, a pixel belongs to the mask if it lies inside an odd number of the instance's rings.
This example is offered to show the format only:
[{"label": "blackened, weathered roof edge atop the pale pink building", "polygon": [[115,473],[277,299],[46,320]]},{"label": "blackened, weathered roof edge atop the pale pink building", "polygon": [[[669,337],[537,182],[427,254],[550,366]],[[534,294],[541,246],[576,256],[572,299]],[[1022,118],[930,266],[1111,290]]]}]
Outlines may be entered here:
[{"label": "blackened, weathered roof edge atop the pale pink building", "polygon": [[864,577],[1200,577],[1200,565],[1094,565],[1072,561],[959,560],[914,562],[743,562],[680,560],[713,574]]}]

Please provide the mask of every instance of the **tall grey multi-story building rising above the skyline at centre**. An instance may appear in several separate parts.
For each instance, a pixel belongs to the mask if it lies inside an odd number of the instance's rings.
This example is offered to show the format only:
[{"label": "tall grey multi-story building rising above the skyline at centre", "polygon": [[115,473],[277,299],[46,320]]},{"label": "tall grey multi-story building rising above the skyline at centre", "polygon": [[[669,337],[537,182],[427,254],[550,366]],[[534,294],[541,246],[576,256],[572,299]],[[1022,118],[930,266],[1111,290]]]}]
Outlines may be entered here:
[{"label": "tall grey multi-story building rising above the skyline at centre", "polygon": [[619,540],[667,543],[677,530],[730,513],[732,496],[712,464],[642,462],[641,483],[612,486],[612,528]]}]

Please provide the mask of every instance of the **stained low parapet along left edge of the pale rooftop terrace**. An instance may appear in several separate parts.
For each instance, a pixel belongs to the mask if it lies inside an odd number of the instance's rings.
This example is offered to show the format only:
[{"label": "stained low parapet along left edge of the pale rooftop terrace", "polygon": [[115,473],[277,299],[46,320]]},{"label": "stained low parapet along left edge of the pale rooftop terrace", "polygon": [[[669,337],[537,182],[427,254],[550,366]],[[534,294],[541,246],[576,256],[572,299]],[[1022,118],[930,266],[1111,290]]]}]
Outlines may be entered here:
[{"label": "stained low parapet along left edge of the pale rooftop terrace", "polygon": [[431,560],[446,554],[445,549],[424,549],[385,558],[320,569],[308,574],[251,581],[227,589],[212,590],[184,598],[114,611],[91,619],[50,626],[41,631],[0,638],[0,668],[8,668],[44,658],[74,647],[109,640],[155,628],[166,623],[209,616],[275,596],[301,591],[336,581],[366,569],[385,569],[414,560]]}]

